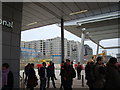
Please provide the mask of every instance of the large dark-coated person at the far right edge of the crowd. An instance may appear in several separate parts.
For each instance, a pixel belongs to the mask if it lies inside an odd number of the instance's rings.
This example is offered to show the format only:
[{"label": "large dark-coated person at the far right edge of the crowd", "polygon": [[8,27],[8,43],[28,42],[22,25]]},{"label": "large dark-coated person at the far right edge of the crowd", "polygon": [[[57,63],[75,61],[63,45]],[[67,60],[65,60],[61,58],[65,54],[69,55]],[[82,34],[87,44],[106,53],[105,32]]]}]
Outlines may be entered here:
[{"label": "large dark-coated person at the far right edge of the crowd", "polygon": [[120,89],[120,72],[117,67],[117,59],[115,57],[110,58],[106,66],[106,83],[105,90]]}]

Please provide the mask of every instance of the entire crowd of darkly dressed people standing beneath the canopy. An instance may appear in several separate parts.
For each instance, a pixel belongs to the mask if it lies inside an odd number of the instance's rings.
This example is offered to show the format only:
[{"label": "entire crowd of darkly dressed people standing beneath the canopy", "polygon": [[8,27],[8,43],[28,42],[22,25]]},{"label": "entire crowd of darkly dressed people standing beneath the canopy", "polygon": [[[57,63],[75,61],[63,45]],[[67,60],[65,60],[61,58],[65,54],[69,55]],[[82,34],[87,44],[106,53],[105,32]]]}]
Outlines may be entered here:
[{"label": "entire crowd of darkly dressed people standing beneath the canopy", "polygon": [[[96,62],[95,62],[96,61]],[[76,69],[76,71],[75,71]],[[61,85],[60,89],[72,90],[73,78],[81,80],[81,71],[83,66],[78,64],[73,66],[73,62],[69,59],[62,61],[60,68]],[[38,78],[34,70],[34,64],[28,64],[25,66],[25,84],[27,89],[34,90],[34,87],[38,85]],[[42,63],[42,67],[38,68],[38,75],[40,79],[40,90],[46,90],[50,86],[50,79],[52,80],[53,88],[56,88],[55,81],[57,80],[55,75],[55,66],[52,61],[49,65],[46,62]],[[103,58],[98,56],[96,60],[87,62],[85,66],[85,79],[90,90],[109,90],[120,89],[120,65],[117,59],[112,57],[104,64]],[[2,65],[2,90],[12,90],[13,88],[13,73],[9,69],[8,63]]]}]

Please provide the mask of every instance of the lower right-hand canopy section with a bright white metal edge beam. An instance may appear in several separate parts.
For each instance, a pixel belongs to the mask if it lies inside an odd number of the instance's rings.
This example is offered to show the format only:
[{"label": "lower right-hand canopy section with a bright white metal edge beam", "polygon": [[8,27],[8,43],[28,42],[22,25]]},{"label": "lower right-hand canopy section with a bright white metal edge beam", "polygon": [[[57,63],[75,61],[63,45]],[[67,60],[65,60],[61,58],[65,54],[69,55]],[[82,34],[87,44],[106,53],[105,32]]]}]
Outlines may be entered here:
[{"label": "lower right-hand canopy section with a bright white metal edge beam", "polygon": [[[98,44],[99,41],[104,39],[119,38],[119,25],[118,12],[112,12],[109,14],[96,15],[89,19],[79,19],[71,21],[71,23],[68,22],[65,24],[65,29],[78,37],[81,37],[81,33],[83,32],[86,39],[90,39]],[[82,28],[85,28],[85,30],[83,31]],[[108,47],[101,47],[109,49]]]}]

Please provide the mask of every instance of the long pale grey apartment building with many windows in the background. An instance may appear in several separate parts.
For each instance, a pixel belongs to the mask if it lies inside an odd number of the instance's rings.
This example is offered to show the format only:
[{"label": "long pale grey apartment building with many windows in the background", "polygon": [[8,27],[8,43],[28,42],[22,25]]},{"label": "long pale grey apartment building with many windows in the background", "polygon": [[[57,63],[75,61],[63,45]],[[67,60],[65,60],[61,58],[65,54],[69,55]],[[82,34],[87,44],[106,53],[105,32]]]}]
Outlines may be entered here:
[{"label": "long pale grey apartment building with many windows in the background", "polygon": [[[55,37],[46,40],[21,42],[21,47],[35,49],[41,59],[52,59],[60,63],[61,59],[61,38]],[[88,45],[84,47],[84,54],[92,55],[93,51]],[[64,39],[64,58],[78,62],[80,57],[80,42]]]}]

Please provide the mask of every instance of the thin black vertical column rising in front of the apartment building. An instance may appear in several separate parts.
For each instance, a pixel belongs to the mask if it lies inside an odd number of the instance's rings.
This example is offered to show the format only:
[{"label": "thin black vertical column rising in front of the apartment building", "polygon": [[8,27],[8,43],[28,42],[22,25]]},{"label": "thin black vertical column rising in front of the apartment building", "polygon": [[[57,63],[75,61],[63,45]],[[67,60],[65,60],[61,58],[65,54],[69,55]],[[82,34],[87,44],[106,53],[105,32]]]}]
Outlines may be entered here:
[{"label": "thin black vertical column rising in front of the apartment building", "polygon": [[61,19],[61,60],[64,60],[64,21]]}]

